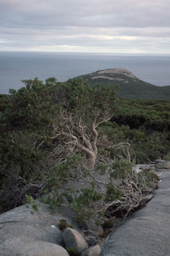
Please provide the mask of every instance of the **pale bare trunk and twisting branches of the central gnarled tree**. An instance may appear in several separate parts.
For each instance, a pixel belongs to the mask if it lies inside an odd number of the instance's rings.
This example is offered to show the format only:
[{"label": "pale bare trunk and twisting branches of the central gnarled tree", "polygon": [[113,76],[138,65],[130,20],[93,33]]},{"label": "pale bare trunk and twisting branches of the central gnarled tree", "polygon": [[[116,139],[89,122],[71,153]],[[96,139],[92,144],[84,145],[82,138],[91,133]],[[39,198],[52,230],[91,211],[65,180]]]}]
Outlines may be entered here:
[{"label": "pale bare trunk and twisting branches of the central gnarled tree", "polygon": [[[58,129],[58,125],[54,124],[54,131],[56,135],[53,139],[58,138],[60,141],[60,145],[68,146],[66,150],[75,148],[83,151],[86,155],[86,165],[89,169],[94,169],[96,165],[96,158],[98,155],[98,131],[97,127],[101,123],[104,123],[110,119],[110,113],[106,112],[106,115],[102,120],[98,120],[98,116],[100,115],[100,111],[95,111],[94,121],[91,123],[91,127],[84,120],[84,112],[82,109],[80,112],[75,115],[71,115],[64,111],[61,115],[63,121],[63,129]],[[69,142],[70,141],[70,144]],[[63,144],[65,143],[65,145]],[[73,152],[73,150],[72,150]]]}]

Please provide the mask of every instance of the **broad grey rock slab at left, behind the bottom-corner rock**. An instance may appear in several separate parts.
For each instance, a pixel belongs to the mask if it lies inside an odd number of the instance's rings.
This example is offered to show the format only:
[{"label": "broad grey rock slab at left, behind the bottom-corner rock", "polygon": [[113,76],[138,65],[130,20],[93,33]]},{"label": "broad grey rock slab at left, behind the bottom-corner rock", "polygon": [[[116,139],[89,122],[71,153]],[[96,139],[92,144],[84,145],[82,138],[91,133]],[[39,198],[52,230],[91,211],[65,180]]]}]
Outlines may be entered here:
[{"label": "broad grey rock slab at left, behind the bottom-corner rock", "polygon": [[[72,224],[77,229],[78,225],[74,223],[72,214],[68,211],[70,214],[70,217],[68,217],[68,215],[62,215],[60,209],[56,209],[54,215],[50,215],[46,211],[48,210],[46,205],[42,205],[38,201],[37,203],[40,215],[37,213],[35,215],[31,214],[31,207],[27,208],[26,205],[0,215],[0,243],[14,237],[27,237],[64,246],[58,223],[60,219],[66,219],[67,223]],[[79,230],[81,229],[79,228]]]}]

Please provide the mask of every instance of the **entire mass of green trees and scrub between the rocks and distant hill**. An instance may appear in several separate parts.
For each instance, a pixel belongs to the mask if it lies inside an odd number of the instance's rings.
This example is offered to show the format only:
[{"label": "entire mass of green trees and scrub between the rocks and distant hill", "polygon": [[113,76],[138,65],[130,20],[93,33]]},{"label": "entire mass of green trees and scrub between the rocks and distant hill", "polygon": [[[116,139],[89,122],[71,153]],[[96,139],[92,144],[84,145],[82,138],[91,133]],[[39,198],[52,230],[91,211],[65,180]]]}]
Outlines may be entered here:
[{"label": "entire mass of green trees and scrub between the rocks and distant hill", "polygon": [[155,176],[131,169],[170,160],[170,101],[120,98],[118,85],[83,79],[23,83],[0,95],[1,213],[26,195],[51,209],[67,202],[79,221],[138,207]]}]

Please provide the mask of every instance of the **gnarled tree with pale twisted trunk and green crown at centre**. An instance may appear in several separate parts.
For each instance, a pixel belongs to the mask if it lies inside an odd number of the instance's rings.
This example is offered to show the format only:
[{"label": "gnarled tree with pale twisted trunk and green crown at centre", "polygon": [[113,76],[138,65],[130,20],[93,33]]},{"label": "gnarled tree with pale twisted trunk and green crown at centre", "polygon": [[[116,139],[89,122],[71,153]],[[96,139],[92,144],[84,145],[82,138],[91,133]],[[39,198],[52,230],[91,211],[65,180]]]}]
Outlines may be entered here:
[{"label": "gnarled tree with pale twisted trunk and green crown at centre", "polygon": [[94,169],[98,154],[98,126],[111,119],[116,107],[114,85],[90,86],[82,79],[58,84],[52,98],[56,103],[53,118],[54,149],[58,157],[81,151],[89,169]]}]

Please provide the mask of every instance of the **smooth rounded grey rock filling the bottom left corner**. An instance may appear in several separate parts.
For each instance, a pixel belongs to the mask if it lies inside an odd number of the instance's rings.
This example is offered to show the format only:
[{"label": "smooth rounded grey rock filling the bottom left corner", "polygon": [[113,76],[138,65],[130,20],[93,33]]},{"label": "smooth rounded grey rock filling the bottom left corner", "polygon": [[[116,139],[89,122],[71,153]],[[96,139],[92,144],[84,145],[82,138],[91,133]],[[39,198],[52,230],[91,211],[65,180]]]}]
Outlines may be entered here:
[{"label": "smooth rounded grey rock filling the bottom left corner", "polygon": [[8,239],[0,244],[1,256],[69,256],[60,245],[35,239]]}]

